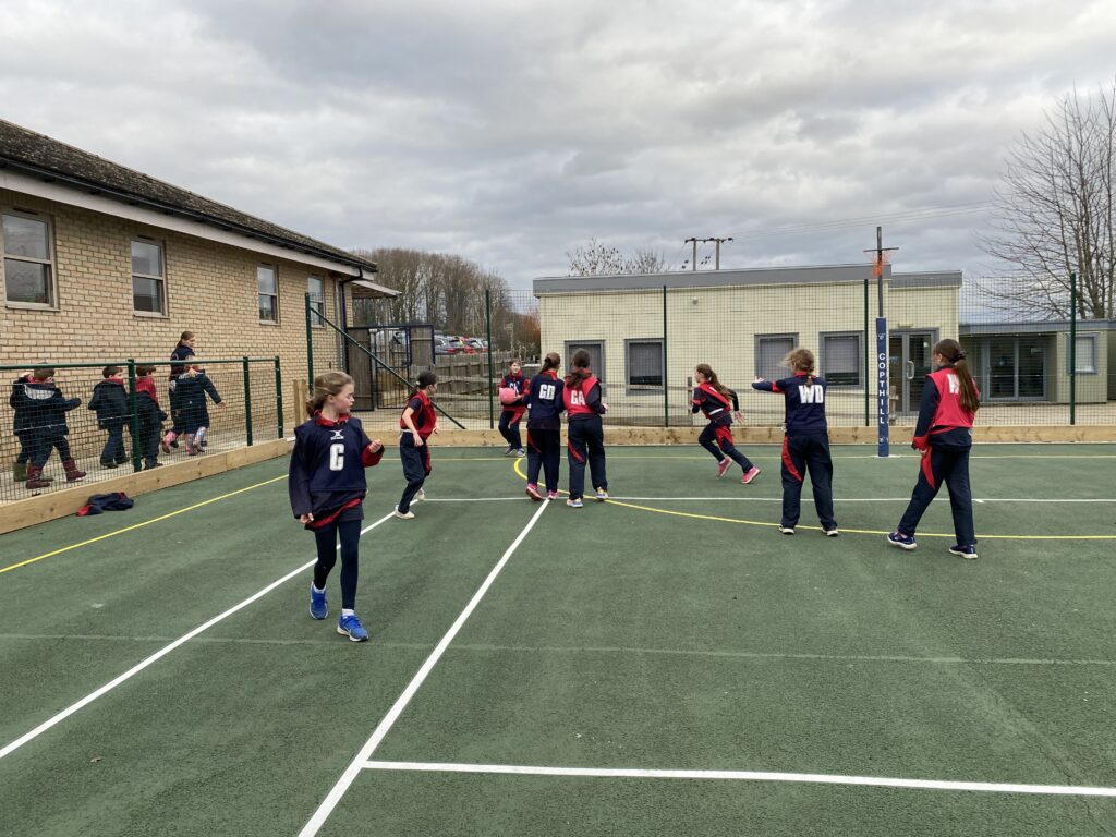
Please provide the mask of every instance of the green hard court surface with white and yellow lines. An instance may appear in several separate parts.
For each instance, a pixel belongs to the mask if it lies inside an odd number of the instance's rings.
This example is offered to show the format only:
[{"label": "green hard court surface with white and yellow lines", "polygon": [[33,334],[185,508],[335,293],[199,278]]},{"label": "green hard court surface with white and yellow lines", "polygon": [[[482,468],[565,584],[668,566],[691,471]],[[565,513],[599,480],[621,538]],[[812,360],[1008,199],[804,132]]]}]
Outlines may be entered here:
[{"label": "green hard court surface with white and yellow lines", "polygon": [[437,449],[413,521],[388,456],[364,644],[282,460],[0,537],[0,835],[1116,834],[1116,446],[974,449],[977,561],[944,491],[885,543],[907,451],[834,449],[839,538],[745,453],[575,510]]}]

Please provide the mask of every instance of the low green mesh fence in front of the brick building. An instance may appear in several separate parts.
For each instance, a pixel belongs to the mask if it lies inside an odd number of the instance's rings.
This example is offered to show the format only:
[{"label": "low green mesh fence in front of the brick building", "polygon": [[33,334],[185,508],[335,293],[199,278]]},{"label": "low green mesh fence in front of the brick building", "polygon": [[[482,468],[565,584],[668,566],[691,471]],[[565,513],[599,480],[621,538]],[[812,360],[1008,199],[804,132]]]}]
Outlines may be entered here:
[{"label": "low green mesh fence in front of the brick building", "polygon": [[[129,376],[127,362],[0,367],[9,384],[0,402],[0,502],[280,437],[273,358],[204,363],[203,373],[173,386],[167,362],[148,365],[148,376],[135,374],[144,364]],[[118,374],[106,378],[109,366]],[[170,431],[176,435],[164,451]]]}]

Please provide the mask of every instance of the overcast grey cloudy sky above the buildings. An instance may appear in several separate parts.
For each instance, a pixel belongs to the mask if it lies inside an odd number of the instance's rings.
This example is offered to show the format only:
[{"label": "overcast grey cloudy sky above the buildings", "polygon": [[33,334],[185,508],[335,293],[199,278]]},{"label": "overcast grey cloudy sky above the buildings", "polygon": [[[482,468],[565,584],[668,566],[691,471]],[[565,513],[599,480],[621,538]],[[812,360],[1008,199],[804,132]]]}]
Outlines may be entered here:
[{"label": "overcast grey cloudy sky above the buildings", "polygon": [[896,269],[993,272],[974,231],[1011,143],[1116,76],[1112,0],[6,0],[2,20],[0,117],[513,287],[590,237],[675,269],[691,235],[734,237],[725,267],[847,263],[876,223]]}]

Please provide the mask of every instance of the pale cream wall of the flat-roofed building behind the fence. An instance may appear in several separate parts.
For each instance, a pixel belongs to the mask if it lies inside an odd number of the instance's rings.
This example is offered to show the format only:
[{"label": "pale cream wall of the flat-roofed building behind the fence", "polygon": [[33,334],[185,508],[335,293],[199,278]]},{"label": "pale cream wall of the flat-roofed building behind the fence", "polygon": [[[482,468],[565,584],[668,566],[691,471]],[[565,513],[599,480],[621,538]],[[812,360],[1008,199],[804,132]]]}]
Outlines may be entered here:
[{"label": "pale cream wall of the flat-roofed building behind the fence", "polygon": [[[661,395],[628,395],[625,340],[661,338],[663,291],[594,291],[540,296],[543,352],[564,352],[567,341],[605,341],[605,383],[614,414],[663,415]],[[875,352],[875,288],[869,296],[869,346]],[[916,327],[956,335],[956,289],[912,289],[887,292],[892,316]],[[894,314],[892,314],[894,311]],[[671,415],[682,415],[689,403],[687,381],[699,363],[710,364],[741,396],[745,423],[778,424],[782,400],[751,388],[756,375],[757,335],[795,334],[797,345],[820,352],[820,335],[864,331],[864,286],[767,285],[679,288],[666,295],[667,384]],[[863,348],[863,346],[862,346]],[[819,356],[820,363],[820,356]],[[868,375],[869,398],[875,397],[874,371]],[[874,405],[872,406],[874,411]],[[828,413],[843,424],[864,422],[864,389],[830,391]],[[874,412],[869,414],[874,415]],[[689,421],[689,419],[685,419]],[[696,420],[695,420],[696,421]]]}]

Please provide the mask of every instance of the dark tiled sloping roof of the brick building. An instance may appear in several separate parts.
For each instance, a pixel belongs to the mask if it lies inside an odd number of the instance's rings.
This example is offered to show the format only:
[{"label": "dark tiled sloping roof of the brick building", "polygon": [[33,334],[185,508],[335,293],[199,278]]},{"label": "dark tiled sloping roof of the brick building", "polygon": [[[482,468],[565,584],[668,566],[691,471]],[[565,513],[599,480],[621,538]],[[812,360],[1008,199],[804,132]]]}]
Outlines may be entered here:
[{"label": "dark tiled sloping roof of the brick building", "polygon": [[70,182],[106,198],[170,211],[343,264],[376,270],[373,262],[350,252],[0,119],[0,167],[3,166]]}]

